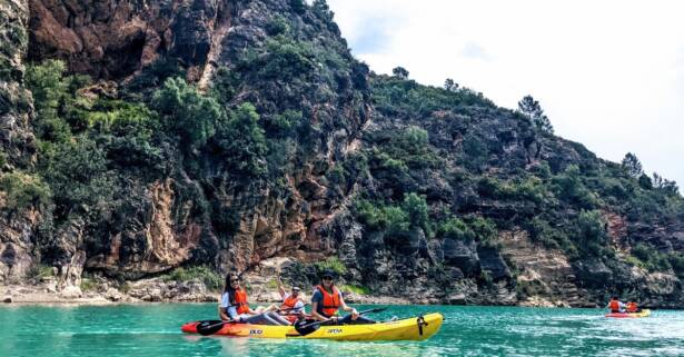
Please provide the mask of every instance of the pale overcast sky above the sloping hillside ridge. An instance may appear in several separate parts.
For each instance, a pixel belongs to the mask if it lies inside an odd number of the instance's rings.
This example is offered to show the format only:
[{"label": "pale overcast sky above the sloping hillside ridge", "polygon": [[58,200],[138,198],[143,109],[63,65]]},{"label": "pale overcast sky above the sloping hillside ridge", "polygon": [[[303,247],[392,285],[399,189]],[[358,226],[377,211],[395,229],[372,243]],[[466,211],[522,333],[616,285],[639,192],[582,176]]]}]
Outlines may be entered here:
[{"label": "pale overcast sky above the sloping hillside ridge", "polygon": [[355,57],[498,106],[537,99],[556,135],[684,186],[684,1],[328,0]]}]

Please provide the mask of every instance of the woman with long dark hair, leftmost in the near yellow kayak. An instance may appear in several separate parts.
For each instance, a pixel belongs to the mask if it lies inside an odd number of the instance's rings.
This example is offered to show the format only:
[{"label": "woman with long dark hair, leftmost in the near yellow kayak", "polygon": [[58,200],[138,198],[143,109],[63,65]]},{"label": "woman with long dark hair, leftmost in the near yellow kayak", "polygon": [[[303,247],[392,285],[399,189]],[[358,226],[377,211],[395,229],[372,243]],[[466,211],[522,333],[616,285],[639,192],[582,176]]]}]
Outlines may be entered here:
[{"label": "woman with long dark hair, leftmost in the near yellow kayak", "polygon": [[235,272],[226,276],[226,285],[219,308],[221,320],[255,325],[289,325],[278,314],[264,311],[262,307],[252,310],[247,303],[247,291],[240,287],[240,278]]}]

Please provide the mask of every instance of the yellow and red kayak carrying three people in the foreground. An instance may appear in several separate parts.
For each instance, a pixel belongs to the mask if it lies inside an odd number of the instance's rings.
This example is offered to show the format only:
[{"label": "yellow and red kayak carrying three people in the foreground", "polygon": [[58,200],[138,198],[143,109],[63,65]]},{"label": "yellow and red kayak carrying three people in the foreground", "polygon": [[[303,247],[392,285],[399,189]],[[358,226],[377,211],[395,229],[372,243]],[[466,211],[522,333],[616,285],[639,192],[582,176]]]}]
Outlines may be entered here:
[{"label": "yellow and red kayak carrying three people in the foreground", "polygon": [[[215,335],[251,338],[305,338],[334,340],[423,340],[435,335],[444,317],[442,314],[428,314],[419,318],[407,318],[369,325],[333,325],[321,326],[314,333],[300,336],[293,326],[226,324]],[[199,321],[187,323],[181,327],[186,334],[197,334]]]}]

